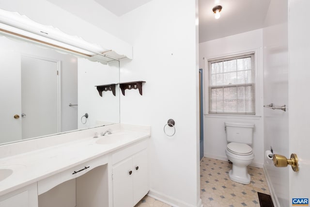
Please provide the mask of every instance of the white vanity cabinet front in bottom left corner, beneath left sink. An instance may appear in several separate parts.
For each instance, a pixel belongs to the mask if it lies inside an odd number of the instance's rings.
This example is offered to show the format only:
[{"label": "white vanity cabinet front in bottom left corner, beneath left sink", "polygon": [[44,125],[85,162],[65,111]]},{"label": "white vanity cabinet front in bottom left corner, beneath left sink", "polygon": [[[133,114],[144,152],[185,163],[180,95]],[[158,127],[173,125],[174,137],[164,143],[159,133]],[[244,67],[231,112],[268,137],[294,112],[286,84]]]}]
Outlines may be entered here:
[{"label": "white vanity cabinet front in bottom left corner, beneath left sink", "polygon": [[38,207],[36,183],[0,196],[0,207]]}]

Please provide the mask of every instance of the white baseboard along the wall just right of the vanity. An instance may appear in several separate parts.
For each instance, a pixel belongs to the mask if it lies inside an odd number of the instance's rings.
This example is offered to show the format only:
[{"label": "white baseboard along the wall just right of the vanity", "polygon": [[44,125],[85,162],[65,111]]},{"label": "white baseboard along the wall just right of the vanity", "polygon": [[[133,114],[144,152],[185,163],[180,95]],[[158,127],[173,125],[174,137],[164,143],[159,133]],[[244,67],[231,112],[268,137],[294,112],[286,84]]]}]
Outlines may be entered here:
[{"label": "white baseboard along the wall just right of the vanity", "polygon": [[148,196],[161,201],[165,204],[168,204],[173,207],[203,207],[202,206],[202,199],[199,199],[197,206],[193,206],[191,204],[188,204],[184,201],[178,200],[176,198],[172,198],[170,196],[164,195],[158,191],[150,190],[149,193],[147,194]]}]

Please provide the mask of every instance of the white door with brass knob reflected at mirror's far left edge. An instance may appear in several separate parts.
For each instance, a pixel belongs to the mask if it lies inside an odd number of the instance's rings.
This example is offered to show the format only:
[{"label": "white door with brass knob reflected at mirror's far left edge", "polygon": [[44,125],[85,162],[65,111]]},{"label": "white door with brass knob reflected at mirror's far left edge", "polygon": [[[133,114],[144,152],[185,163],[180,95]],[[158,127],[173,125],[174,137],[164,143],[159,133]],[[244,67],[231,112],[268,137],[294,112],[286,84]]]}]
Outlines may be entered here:
[{"label": "white door with brass knob reflected at mirror's far left edge", "polygon": [[0,51],[0,57],[0,142],[6,143],[21,140],[20,55]]}]

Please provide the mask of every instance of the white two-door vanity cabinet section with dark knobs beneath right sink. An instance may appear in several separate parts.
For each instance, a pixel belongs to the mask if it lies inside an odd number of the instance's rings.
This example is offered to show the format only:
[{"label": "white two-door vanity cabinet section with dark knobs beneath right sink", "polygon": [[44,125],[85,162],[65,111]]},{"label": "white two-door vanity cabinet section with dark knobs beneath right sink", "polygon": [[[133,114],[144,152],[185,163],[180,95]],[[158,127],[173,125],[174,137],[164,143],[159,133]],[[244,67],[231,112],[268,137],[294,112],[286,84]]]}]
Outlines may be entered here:
[{"label": "white two-door vanity cabinet section with dark knobs beneath right sink", "polygon": [[148,141],[112,155],[113,207],[133,207],[150,190]]}]

